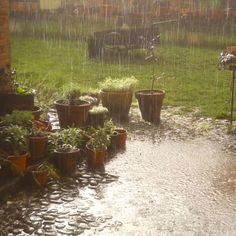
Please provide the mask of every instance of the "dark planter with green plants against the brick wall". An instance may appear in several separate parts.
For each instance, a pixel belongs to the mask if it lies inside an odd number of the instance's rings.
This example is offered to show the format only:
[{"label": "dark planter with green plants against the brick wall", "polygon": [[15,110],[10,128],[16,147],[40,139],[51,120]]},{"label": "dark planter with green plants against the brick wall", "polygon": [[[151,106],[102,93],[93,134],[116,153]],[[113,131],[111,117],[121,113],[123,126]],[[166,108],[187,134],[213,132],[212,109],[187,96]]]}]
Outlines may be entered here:
[{"label": "dark planter with green plants against the brick wall", "polygon": [[13,110],[32,110],[34,107],[34,90],[19,86],[16,71],[9,68],[0,70],[0,116]]}]

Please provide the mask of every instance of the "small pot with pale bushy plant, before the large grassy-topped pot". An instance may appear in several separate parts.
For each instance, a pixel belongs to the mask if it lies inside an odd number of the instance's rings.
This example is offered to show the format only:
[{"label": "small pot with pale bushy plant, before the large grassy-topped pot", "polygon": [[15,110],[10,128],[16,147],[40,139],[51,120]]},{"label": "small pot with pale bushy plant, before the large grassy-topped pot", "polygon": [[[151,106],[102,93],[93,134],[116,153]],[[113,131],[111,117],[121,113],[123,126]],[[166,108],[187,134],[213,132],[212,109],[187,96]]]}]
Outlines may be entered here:
[{"label": "small pot with pale bushy plant, before the large grassy-topped pot", "polygon": [[95,128],[103,127],[107,113],[108,110],[106,107],[94,106],[89,110],[87,124]]}]

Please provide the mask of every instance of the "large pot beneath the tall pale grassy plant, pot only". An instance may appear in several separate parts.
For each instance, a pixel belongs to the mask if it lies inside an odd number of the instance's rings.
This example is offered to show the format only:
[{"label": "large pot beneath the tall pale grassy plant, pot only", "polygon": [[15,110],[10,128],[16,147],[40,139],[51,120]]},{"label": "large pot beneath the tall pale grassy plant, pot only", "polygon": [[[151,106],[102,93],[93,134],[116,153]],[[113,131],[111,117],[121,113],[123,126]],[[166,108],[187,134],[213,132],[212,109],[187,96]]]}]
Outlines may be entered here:
[{"label": "large pot beneath the tall pale grassy plant, pot only", "polygon": [[128,92],[106,92],[101,91],[102,105],[106,107],[112,118],[127,120],[132,103],[133,93]]}]

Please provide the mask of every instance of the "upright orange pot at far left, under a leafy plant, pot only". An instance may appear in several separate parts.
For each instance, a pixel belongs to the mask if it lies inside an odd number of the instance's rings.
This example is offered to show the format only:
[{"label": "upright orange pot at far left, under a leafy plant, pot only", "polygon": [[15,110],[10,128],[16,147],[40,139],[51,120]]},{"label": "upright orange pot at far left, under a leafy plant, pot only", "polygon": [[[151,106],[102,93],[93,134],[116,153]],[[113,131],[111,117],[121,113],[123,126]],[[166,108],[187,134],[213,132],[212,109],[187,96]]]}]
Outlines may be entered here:
[{"label": "upright orange pot at far left, under a leafy plant, pot only", "polygon": [[12,163],[11,165],[11,173],[13,176],[23,175],[26,168],[26,160],[28,154],[22,154],[18,156],[9,156],[7,159]]}]

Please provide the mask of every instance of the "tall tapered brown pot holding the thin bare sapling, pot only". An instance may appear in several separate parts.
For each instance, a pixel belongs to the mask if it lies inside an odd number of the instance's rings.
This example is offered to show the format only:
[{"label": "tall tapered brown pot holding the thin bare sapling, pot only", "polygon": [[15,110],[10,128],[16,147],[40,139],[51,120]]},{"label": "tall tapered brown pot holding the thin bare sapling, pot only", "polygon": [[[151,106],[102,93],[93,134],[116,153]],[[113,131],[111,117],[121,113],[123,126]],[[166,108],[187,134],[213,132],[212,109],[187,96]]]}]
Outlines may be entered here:
[{"label": "tall tapered brown pot holding the thin bare sapling, pot only", "polygon": [[140,90],[135,93],[142,118],[151,123],[160,122],[160,114],[165,91]]}]

